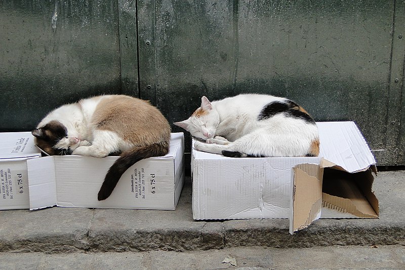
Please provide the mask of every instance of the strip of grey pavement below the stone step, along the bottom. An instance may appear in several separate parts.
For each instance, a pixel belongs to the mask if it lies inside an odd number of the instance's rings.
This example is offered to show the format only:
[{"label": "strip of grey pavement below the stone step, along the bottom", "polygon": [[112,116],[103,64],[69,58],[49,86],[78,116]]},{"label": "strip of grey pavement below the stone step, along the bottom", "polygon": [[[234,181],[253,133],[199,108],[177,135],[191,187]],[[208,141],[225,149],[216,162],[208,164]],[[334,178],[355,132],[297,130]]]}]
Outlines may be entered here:
[{"label": "strip of grey pavement below the stone step, along the bottom", "polygon": [[0,253],[0,269],[405,269],[405,247],[238,247],[185,252]]}]

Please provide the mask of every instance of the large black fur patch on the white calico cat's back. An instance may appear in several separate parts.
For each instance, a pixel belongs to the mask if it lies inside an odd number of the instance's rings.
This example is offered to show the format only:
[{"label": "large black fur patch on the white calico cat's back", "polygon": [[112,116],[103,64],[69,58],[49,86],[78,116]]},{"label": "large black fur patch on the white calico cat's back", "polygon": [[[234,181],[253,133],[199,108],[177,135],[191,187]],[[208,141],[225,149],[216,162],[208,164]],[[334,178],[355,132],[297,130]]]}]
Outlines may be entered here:
[{"label": "large black fur patch on the white calico cat's back", "polygon": [[291,101],[288,100],[285,102],[274,101],[267,104],[259,113],[258,120],[266,120],[273,117],[277,113],[285,113],[287,117],[294,117],[300,118],[309,124],[315,124],[315,121],[312,117],[301,110],[299,110],[299,106]]}]

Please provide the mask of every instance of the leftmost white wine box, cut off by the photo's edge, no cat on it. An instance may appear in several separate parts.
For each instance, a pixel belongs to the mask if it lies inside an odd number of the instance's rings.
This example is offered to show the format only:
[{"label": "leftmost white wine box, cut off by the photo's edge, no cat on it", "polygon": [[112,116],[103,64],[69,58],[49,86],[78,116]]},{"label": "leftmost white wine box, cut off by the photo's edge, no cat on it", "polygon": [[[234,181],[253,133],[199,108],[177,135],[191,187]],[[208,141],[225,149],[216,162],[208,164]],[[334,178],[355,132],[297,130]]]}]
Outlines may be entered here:
[{"label": "leftmost white wine box, cut off by the photo's edge, no cat on it", "polygon": [[29,208],[27,160],[39,157],[31,132],[0,133],[0,210]]}]

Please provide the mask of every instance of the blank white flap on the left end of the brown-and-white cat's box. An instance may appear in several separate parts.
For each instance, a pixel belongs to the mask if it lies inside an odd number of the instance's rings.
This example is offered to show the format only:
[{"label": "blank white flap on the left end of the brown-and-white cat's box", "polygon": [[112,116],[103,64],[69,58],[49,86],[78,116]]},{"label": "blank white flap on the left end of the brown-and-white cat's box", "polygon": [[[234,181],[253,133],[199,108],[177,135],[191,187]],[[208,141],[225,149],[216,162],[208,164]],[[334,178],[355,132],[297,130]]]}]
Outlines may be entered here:
[{"label": "blank white flap on the left end of the brown-and-white cat's box", "polygon": [[29,208],[38,210],[56,205],[56,175],[54,157],[27,161]]}]

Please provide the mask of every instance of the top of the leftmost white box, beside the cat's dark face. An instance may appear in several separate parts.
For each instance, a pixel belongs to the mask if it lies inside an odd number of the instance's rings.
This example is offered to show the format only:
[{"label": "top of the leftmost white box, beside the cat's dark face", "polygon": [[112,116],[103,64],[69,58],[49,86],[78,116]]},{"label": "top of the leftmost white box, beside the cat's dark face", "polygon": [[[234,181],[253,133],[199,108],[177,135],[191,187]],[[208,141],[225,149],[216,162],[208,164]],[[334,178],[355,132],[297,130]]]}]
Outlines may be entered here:
[{"label": "top of the leftmost white box, beside the cat's dark face", "polygon": [[41,157],[31,132],[0,133],[0,162]]}]

